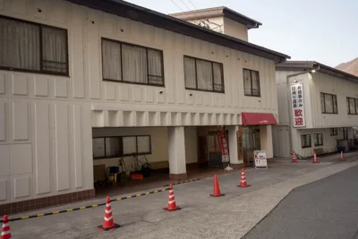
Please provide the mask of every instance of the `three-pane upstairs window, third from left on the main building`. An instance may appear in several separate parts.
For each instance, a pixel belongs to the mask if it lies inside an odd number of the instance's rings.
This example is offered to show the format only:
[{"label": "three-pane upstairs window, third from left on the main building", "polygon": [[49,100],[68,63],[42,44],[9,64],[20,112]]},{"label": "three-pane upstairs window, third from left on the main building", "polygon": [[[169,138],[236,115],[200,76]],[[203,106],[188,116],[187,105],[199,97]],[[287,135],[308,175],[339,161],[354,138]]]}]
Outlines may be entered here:
[{"label": "three-pane upstairs window, third from left on the main building", "polygon": [[185,89],[224,93],[223,64],[184,56]]}]

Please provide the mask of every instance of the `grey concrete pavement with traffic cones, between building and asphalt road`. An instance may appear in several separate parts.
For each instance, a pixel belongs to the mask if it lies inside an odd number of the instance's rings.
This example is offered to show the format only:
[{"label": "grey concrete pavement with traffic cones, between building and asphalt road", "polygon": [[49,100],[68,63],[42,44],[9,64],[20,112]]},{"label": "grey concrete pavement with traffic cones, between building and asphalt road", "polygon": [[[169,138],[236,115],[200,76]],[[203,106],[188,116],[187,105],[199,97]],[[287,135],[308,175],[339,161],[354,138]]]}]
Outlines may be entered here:
[{"label": "grey concrete pavement with traffic cones, between building and asphalt road", "polygon": [[[358,153],[352,155],[358,158]],[[239,238],[265,217],[294,187],[336,174],[358,162],[277,162],[266,169],[249,169],[251,187],[237,188],[240,173],[218,177],[225,197],[210,198],[212,178],[175,185],[175,201],[182,210],[166,212],[167,192],[112,202],[115,223],[122,227],[98,232],[104,208],[84,209],[14,221],[14,238]],[[85,201],[28,215],[102,203]],[[19,216],[14,216],[18,218]]]}]

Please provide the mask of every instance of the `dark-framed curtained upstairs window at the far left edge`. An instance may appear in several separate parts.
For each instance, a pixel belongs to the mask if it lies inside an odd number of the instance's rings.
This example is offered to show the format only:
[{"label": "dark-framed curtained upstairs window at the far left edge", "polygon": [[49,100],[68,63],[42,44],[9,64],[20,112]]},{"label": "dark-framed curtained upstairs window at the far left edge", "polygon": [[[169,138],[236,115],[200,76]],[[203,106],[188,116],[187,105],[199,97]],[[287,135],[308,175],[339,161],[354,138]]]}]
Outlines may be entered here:
[{"label": "dark-framed curtained upstairs window at the far left edge", "polygon": [[68,75],[67,30],[0,16],[0,69]]}]

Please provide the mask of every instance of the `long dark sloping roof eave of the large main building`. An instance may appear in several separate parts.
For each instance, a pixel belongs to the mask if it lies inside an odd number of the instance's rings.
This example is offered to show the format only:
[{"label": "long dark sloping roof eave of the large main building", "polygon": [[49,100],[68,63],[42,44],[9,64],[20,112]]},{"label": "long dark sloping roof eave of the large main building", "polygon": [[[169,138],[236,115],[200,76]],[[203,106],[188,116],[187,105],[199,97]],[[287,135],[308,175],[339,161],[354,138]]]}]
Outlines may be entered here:
[{"label": "long dark sloping roof eave of the large main building", "polygon": [[74,4],[81,4],[106,13],[115,14],[133,21],[164,29],[171,30],[192,38],[199,38],[223,47],[233,48],[252,55],[258,55],[276,63],[284,62],[289,59],[289,55],[260,47],[250,42],[233,38],[214,30],[207,30],[187,21],[176,19],[175,17],[158,13],[139,5],[130,4],[122,0],[66,0]]}]

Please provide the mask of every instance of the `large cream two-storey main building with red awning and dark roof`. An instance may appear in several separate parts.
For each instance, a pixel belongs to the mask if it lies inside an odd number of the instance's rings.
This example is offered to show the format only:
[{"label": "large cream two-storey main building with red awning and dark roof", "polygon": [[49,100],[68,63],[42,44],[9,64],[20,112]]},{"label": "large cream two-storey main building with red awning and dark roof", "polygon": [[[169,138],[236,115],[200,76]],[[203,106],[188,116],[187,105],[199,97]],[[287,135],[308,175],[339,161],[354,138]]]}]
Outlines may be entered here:
[{"label": "large cream two-storey main building with red awning and dark roof", "polygon": [[[259,24],[230,14],[236,37]],[[272,158],[288,56],[244,39],[123,1],[0,1],[0,214],[94,197],[133,153],[175,179],[222,164],[223,128],[232,166]]]}]

